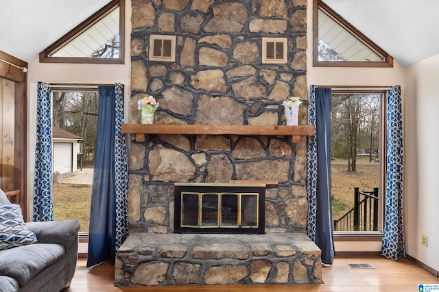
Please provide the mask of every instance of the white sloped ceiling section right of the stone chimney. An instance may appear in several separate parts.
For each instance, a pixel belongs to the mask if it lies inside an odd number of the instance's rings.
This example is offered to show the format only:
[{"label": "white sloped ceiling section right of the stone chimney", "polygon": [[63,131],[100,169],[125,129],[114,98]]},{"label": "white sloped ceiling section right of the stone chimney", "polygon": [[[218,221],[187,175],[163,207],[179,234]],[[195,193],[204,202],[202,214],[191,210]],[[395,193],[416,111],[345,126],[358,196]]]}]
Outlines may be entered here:
[{"label": "white sloped ceiling section right of the stone chimney", "polygon": [[396,62],[439,54],[438,0],[323,0]]}]

